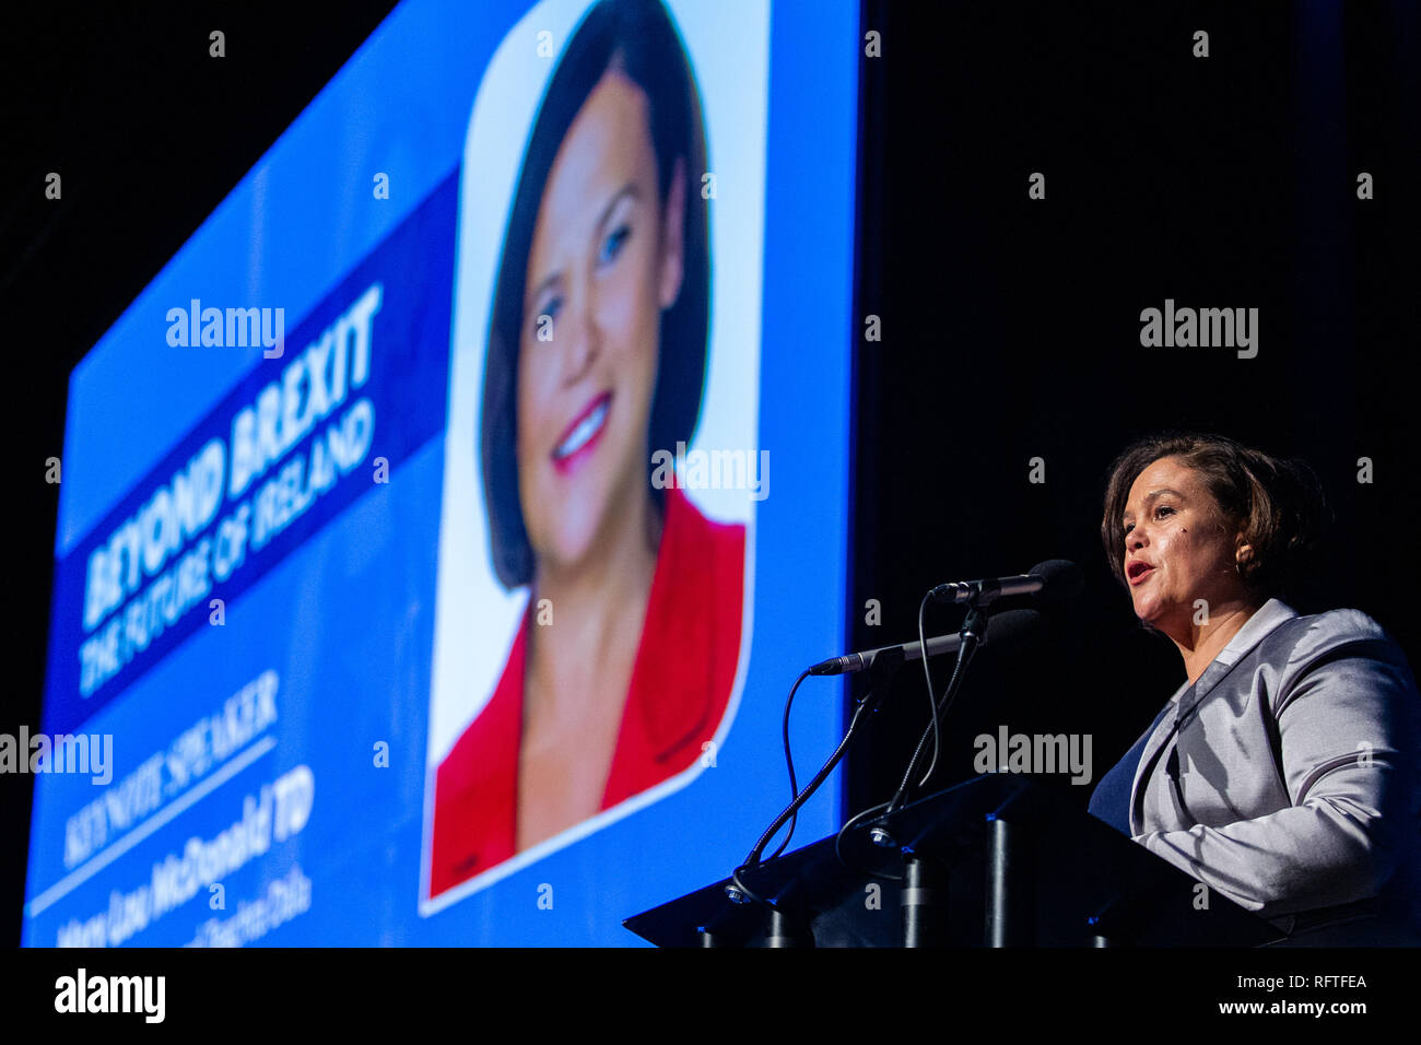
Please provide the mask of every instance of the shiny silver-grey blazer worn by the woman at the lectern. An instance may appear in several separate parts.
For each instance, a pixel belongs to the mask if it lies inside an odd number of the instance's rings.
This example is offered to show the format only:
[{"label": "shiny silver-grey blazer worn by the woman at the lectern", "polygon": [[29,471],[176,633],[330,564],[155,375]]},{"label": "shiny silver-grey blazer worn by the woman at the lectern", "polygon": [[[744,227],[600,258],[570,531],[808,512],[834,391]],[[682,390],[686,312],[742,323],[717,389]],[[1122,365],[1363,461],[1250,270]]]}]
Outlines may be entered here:
[{"label": "shiny silver-grey blazer worn by the woman at the lectern", "polygon": [[1172,704],[1135,842],[1283,933],[1357,911],[1421,930],[1421,698],[1371,617],[1269,600]]}]

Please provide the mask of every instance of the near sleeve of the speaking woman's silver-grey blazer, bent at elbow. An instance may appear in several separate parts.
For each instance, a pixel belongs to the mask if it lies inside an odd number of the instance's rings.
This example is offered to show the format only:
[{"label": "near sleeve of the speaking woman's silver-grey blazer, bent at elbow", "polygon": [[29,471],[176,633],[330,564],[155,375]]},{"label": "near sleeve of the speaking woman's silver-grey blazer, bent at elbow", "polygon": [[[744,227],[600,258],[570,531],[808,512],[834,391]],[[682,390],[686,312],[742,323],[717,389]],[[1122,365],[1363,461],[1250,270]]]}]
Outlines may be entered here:
[{"label": "near sleeve of the speaking woman's silver-grey blazer, bent at elbow", "polygon": [[1256,668],[1276,732],[1270,751],[1241,752],[1252,765],[1239,768],[1272,761],[1292,806],[1135,839],[1265,917],[1376,896],[1417,830],[1418,698],[1405,657],[1356,610],[1299,631]]}]

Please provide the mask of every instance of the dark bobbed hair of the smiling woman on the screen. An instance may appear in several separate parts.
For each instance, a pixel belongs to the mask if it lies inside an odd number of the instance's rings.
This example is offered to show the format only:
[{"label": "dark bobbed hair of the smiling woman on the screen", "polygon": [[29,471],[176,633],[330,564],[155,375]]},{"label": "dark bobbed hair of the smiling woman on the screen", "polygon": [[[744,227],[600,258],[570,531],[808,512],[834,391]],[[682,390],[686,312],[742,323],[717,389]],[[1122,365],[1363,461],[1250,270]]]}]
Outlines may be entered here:
[{"label": "dark bobbed hair of the smiling woman on the screen", "polygon": [[[588,95],[614,67],[647,95],[662,212],[676,159],[685,161],[684,277],[676,301],[661,314],[648,444],[669,449],[676,442],[689,442],[701,415],[710,314],[706,200],[695,191],[708,168],[701,95],[681,36],[661,0],[601,0],[574,31],[543,95],[509,212],[495,284],[479,451],[493,569],[509,589],[527,584],[534,572],[519,499],[516,451],[519,348],[533,229],[557,151]],[[662,510],[662,491],[651,485],[651,462],[647,465],[652,503]]]}]

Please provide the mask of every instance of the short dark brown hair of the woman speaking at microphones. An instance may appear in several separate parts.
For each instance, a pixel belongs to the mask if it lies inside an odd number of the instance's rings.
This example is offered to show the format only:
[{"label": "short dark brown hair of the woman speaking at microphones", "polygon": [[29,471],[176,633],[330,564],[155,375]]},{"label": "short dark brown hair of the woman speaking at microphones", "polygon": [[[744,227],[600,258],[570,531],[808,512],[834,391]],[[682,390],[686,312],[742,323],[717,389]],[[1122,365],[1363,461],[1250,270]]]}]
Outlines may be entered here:
[{"label": "short dark brown hair of the woman speaking at microphones", "polygon": [[1252,554],[1239,563],[1239,576],[1253,596],[1287,596],[1299,587],[1330,519],[1316,473],[1302,461],[1279,459],[1222,435],[1199,432],[1147,436],[1111,465],[1100,539],[1121,584],[1128,587],[1121,518],[1130,488],[1161,458],[1178,458],[1198,472],[1228,525],[1252,546]]}]

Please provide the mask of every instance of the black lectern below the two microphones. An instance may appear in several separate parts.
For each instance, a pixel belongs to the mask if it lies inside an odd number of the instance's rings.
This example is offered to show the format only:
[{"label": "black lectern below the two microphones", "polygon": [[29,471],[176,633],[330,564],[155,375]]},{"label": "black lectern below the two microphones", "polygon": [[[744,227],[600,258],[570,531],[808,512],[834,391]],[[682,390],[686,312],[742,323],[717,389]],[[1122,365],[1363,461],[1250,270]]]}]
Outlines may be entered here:
[{"label": "black lectern below the two microphones", "polygon": [[1282,937],[1081,812],[1057,788],[979,776],[845,836],[627,918],[659,947],[1256,947]]}]

